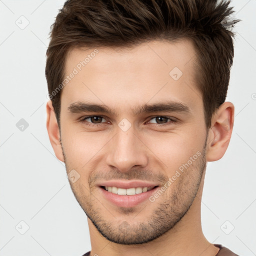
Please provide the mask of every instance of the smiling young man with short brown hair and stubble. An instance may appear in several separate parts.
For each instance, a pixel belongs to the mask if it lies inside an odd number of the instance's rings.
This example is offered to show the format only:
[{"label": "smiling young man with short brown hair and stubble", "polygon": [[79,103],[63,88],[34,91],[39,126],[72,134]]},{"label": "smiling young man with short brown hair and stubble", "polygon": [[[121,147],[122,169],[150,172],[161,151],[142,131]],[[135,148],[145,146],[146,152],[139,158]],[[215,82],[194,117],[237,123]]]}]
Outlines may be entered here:
[{"label": "smiling young man with short brown hair and stubble", "polygon": [[88,217],[84,255],[236,255],[201,229],[228,146],[229,1],[69,0],[47,49],[47,130]]}]

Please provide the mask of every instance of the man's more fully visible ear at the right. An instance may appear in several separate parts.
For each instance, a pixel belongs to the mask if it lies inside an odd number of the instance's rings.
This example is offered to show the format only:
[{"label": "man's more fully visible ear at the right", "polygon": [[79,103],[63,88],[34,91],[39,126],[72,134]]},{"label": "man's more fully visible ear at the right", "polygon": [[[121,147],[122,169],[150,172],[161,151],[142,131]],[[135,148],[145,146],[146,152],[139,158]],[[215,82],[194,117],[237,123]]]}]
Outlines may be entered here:
[{"label": "man's more fully visible ear at the right", "polygon": [[234,123],[234,105],[224,102],[211,118],[211,128],[207,139],[207,161],[219,160],[229,144]]}]

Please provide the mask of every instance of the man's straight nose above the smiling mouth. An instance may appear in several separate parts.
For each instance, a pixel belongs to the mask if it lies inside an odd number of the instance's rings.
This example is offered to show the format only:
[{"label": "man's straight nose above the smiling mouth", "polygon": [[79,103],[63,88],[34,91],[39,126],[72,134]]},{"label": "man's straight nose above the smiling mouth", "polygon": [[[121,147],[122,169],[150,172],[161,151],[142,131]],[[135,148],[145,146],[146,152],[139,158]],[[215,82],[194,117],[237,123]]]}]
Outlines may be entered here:
[{"label": "man's straight nose above the smiling mouth", "polygon": [[127,131],[119,130],[111,139],[106,163],[121,172],[129,171],[133,166],[145,167],[148,156],[145,144],[132,127]]}]

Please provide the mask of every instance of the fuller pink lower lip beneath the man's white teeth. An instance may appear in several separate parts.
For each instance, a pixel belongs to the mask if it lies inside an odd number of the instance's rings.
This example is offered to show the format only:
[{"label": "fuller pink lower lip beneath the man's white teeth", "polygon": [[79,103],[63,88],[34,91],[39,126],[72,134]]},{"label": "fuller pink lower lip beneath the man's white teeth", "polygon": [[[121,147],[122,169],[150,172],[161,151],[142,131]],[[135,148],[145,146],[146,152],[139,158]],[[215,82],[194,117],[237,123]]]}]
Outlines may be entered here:
[{"label": "fuller pink lower lip beneath the man's white teeth", "polygon": [[111,192],[108,192],[102,187],[99,187],[103,196],[113,204],[119,206],[119,207],[133,207],[137,204],[141,203],[142,201],[145,201],[150,197],[152,193],[155,192],[157,187],[154,187],[153,189],[142,192],[140,194],[134,194],[134,195],[121,195],[121,194],[114,194]]}]

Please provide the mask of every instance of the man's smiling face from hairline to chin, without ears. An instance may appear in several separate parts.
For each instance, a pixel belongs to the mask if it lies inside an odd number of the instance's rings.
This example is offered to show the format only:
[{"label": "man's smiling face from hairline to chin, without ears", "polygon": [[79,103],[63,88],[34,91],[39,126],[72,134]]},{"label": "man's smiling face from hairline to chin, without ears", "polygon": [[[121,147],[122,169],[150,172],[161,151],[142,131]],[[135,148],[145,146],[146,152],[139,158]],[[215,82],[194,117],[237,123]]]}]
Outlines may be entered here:
[{"label": "man's smiling face from hairline to chin, without ears", "polygon": [[65,73],[75,74],[61,93],[64,162],[77,201],[110,241],[153,240],[194,200],[207,135],[194,54],[181,40],[67,56]]}]

